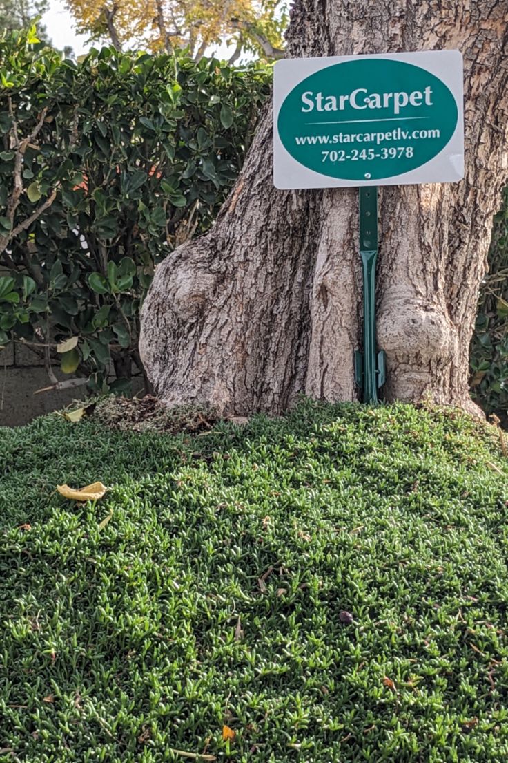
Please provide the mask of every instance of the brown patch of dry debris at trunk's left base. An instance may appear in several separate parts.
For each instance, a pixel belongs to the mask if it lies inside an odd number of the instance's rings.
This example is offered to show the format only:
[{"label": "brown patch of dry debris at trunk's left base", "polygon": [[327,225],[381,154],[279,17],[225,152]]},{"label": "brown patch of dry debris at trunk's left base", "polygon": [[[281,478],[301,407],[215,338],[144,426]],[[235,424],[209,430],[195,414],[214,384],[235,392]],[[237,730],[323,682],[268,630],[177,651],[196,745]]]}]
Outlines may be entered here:
[{"label": "brown patch of dry debris at trunk's left base", "polygon": [[202,432],[212,428],[218,417],[212,410],[196,405],[167,408],[153,395],[144,398],[104,398],[92,417],[106,427],[123,432]]}]

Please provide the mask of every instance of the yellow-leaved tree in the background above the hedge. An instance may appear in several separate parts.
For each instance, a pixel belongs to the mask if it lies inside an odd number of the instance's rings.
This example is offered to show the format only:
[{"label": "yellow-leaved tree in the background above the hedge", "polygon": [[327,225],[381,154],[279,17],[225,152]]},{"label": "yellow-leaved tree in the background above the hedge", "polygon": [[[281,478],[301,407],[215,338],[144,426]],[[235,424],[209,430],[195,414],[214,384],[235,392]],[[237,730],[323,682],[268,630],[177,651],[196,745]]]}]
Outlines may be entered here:
[{"label": "yellow-leaved tree in the background above the hedge", "polygon": [[67,0],[78,30],[92,40],[109,37],[152,50],[184,47],[196,60],[210,45],[235,43],[233,63],[244,50],[282,56],[285,0]]}]

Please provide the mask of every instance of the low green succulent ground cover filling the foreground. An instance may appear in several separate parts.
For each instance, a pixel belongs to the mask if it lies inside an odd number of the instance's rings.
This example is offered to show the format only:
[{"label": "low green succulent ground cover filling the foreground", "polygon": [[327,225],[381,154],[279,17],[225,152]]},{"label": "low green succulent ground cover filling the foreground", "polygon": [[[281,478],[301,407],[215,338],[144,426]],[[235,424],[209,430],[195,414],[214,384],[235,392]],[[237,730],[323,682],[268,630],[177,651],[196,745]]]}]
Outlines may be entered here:
[{"label": "low green succulent ground cover filling the foreground", "polygon": [[[508,759],[493,428],[309,402],[175,436],[52,415],[0,430],[0,459],[0,760]],[[97,480],[96,503],[55,493]]]}]

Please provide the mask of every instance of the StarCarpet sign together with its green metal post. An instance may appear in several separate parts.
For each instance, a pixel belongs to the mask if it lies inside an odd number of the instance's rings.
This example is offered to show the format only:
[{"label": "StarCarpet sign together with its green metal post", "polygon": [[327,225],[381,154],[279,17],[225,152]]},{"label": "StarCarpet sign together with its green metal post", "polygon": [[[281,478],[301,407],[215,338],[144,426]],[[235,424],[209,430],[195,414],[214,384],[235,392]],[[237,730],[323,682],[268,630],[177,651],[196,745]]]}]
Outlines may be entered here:
[{"label": "StarCarpet sign together with its green metal post", "polygon": [[364,326],[355,371],[367,403],[377,402],[385,381],[385,354],[375,348],[377,186],[462,179],[462,100],[458,50],[286,59],[274,67],[276,188],[359,187]]}]

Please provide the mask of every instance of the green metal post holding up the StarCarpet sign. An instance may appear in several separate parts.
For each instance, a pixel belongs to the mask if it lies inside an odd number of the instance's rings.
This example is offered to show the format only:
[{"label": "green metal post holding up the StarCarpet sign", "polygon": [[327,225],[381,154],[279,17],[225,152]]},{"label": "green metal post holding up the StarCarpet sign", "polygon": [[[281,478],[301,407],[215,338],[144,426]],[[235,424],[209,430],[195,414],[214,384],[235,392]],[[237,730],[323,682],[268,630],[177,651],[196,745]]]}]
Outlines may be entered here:
[{"label": "green metal post holding up the StarCarpet sign", "polygon": [[363,271],[363,353],[355,353],[356,384],[363,402],[376,404],[385,383],[385,353],[375,346],[375,265],[378,258],[378,189],[359,188],[359,253]]}]

